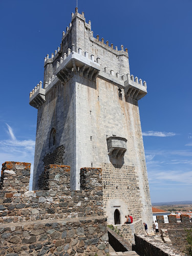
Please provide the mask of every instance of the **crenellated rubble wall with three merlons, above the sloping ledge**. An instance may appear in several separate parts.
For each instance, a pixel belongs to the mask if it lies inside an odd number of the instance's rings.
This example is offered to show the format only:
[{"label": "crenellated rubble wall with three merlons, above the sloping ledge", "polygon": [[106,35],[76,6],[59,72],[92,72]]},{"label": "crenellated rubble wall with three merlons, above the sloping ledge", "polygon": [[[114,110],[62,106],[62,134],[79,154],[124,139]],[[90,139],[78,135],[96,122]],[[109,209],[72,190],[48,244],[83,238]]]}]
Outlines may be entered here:
[{"label": "crenellated rubble wall with three merlons, above the sloping ledge", "polygon": [[70,166],[50,164],[29,191],[30,163],[5,162],[0,190],[0,222],[24,222],[103,215],[101,168],[80,170],[81,190],[70,188]]}]

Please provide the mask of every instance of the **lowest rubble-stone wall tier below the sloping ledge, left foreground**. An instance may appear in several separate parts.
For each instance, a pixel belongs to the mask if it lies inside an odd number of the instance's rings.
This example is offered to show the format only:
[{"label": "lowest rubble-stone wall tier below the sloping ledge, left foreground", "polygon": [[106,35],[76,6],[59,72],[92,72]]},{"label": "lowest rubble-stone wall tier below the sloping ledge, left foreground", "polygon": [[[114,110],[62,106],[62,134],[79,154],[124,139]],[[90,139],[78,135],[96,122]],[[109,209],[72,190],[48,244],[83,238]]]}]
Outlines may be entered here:
[{"label": "lowest rubble-stone wall tier below the sloping ledge, left foreground", "polygon": [[0,255],[109,253],[104,217],[1,224],[0,244]]}]

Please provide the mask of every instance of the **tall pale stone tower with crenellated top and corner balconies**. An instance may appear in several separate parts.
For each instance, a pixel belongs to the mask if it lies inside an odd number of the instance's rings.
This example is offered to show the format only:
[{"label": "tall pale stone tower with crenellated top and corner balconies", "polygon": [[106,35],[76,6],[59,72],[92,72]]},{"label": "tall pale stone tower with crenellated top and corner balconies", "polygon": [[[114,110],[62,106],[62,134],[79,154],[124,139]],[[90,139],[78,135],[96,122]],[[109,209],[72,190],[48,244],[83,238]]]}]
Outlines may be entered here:
[{"label": "tall pale stone tower with crenellated top and corner balconies", "polygon": [[33,189],[49,164],[71,166],[72,189],[80,188],[80,168],[100,167],[108,222],[122,224],[131,214],[139,226],[152,226],[138,108],[146,82],[130,76],[127,49],[95,38],[76,8],[44,67],[44,83],[30,93],[38,109]]}]

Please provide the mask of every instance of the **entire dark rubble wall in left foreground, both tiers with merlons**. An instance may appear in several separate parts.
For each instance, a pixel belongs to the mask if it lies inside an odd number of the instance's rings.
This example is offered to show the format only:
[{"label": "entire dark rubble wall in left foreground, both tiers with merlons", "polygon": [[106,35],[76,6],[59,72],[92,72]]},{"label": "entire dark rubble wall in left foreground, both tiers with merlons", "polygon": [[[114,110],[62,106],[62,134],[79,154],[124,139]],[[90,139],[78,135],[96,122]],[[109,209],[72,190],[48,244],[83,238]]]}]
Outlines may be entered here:
[{"label": "entire dark rubble wall in left foreground, both tiers with merlons", "polygon": [[[30,169],[28,171],[30,175]],[[12,177],[12,173],[6,175],[3,184]],[[14,187],[14,183],[11,184]],[[6,186],[1,187],[0,255],[94,256],[108,253],[101,169],[82,168],[81,184],[84,186],[81,191],[71,191],[70,167],[49,165],[45,168],[42,184],[49,190],[7,191],[4,190]]]}]

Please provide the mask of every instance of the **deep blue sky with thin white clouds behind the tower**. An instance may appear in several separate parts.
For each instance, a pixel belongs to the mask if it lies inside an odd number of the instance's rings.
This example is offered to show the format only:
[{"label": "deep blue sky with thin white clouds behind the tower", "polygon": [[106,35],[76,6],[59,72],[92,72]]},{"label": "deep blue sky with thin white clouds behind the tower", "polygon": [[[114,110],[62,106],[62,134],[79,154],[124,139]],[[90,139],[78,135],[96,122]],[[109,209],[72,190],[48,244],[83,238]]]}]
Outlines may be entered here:
[{"label": "deep blue sky with thin white clouds behind the tower", "polygon": [[[60,45],[76,0],[1,0],[0,163],[33,164],[37,110],[29,92],[44,57]],[[147,82],[139,101],[152,202],[191,200],[190,0],[78,0],[94,36],[129,51],[131,74]],[[32,166],[33,167],[33,166]]]}]

